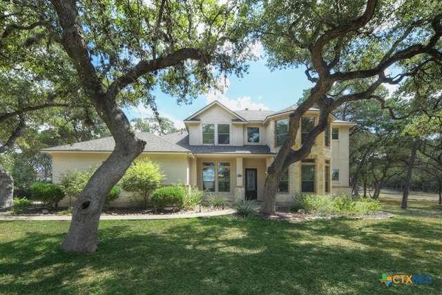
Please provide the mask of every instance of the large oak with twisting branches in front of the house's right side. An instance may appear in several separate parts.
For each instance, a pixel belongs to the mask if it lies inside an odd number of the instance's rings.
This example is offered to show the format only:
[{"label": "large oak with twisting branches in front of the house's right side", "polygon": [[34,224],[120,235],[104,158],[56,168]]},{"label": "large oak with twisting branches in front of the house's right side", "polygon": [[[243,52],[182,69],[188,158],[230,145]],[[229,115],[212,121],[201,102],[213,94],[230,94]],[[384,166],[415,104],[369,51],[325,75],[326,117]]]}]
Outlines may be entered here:
[{"label": "large oak with twisting branches in front of the house's right side", "polygon": [[[381,84],[413,79],[425,64],[441,64],[440,1],[248,1],[249,26],[269,55],[269,66],[304,66],[313,87],[290,115],[288,138],[267,169],[262,213],[274,213],[278,183],[305,158],[327,117],[345,102],[378,99]],[[393,74],[394,73],[394,74]],[[319,120],[294,150],[300,117],[311,106]]]}]

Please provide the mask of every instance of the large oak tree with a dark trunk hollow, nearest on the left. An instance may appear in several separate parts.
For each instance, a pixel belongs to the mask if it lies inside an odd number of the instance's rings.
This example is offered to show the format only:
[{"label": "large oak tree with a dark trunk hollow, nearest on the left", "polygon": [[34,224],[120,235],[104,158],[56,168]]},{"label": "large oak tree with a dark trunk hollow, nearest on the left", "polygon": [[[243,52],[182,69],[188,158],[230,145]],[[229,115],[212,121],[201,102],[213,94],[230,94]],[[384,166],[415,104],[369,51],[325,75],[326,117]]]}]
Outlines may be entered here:
[{"label": "large oak tree with a dark trunk hollow, nearest on the left", "polygon": [[142,102],[155,109],[155,87],[179,103],[190,102],[216,86],[221,73],[241,73],[242,61],[249,57],[249,43],[236,37],[241,7],[236,1],[215,0],[52,0],[2,5],[2,50],[20,41],[31,46],[33,41],[44,41],[48,50],[61,50],[64,57],[56,58],[73,65],[73,77],[114,137],[115,149],[75,202],[70,229],[61,244],[61,251],[92,254],[99,244],[104,200],[145,145],[131,131],[121,106]]}]

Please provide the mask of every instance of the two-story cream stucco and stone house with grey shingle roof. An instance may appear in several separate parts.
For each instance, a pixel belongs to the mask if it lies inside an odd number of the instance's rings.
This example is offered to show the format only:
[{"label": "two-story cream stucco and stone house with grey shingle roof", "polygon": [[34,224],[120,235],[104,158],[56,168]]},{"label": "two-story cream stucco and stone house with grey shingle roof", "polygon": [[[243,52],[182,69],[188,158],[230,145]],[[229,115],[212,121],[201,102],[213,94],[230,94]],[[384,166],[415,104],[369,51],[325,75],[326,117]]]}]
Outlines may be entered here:
[{"label": "two-story cream stucco and stone house with grey shingle roof", "polygon": [[[231,111],[215,101],[184,120],[187,132],[163,136],[137,133],[146,141],[139,158],[148,157],[166,174],[164,184],[198,185],[206,196],[217,194],[230,200],[262,200],[267,166],[287,137],[289,115],[282,111]],[[298,140],[316,124],[318,109],[302,117]],[[327,130],[316,138],[310,155],[292,164],[279,184],[276,202],[287,204],[298,192],[351,193],[349,188],[349,129],[355,124],[329,116]],[[52,155],[53,181],[66,170],[88,169],[110,155],[113,137],[43,149]],[[124,200],[124,199],[122,199]],[[131,200],[119,200],[130,205]],[[117,205],[117,204],[116,204]]]}]

